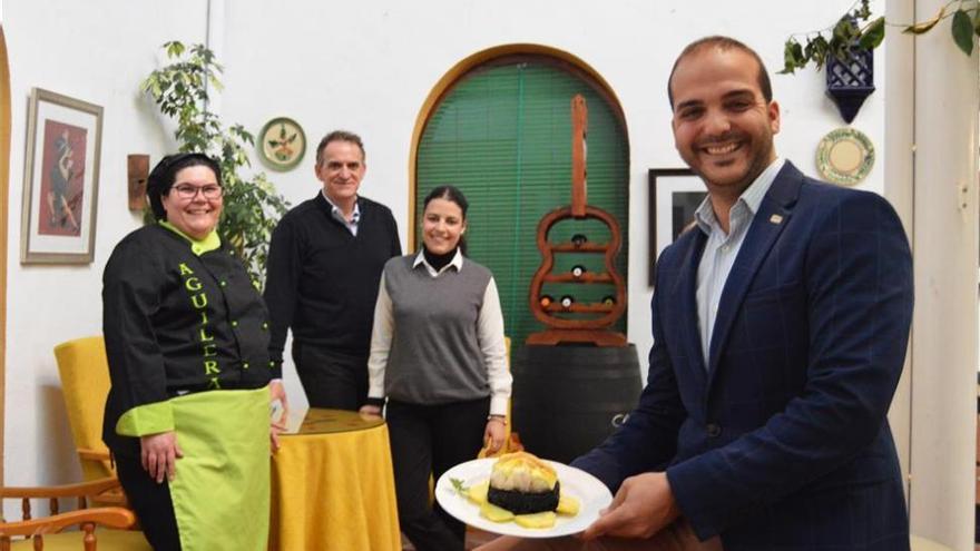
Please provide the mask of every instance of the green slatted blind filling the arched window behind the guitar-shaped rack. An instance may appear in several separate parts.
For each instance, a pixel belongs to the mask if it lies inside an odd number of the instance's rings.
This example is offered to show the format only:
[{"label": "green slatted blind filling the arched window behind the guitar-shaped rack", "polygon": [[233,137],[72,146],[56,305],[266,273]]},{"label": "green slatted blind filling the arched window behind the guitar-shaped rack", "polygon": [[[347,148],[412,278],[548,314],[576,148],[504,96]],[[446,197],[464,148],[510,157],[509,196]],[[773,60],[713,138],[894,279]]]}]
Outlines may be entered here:
[{"label": "green slatted blind filling the arched window behind the guitar-shaped rack", "polygon": [[[545,214],[571,203],[571,98],[581,94],[589,109],[588,200],[620,224],[623,248],[616,269],[626,278],[629,228],[626,132],[614,108],[582,78],[548,60],[522,60],[473,70],[440,100],[427,121],[418,148],[415,219],[422,200],[435,187],[459,187],[467,214],[468,256],[497,281],[506,332],[514,345],[543,329],[528,308],[531,278],[541,264],[536,244]],[[418,226],[418,225],[416,225]],[[415,243],[422,246],[420,228]],[[597,220],[565,220],[550,240],[585,234],[605,243],[609,232]],[[605,272],[601,255],[555,255],[552,272],[582,265]],[[599,302],[615,289],[607,285],[547,284],[545,293],[577,302]],[[626,331],[624,315],[614,326]]]}]

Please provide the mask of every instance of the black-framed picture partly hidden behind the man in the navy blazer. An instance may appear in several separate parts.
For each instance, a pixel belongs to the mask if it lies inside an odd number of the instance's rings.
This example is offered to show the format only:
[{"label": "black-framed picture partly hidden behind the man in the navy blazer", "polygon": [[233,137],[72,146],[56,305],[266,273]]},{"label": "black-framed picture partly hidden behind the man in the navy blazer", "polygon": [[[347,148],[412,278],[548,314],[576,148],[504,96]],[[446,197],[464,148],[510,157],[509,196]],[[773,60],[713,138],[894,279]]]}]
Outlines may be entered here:
[{"label": "black-framed picture partly hidden behind the man in the navy blazer", "polygon": [[649,170],[649,285],[654,285],[656,263],[667,245],[694,222],[694,211],[707,196],[702,179],[688,168]]}]

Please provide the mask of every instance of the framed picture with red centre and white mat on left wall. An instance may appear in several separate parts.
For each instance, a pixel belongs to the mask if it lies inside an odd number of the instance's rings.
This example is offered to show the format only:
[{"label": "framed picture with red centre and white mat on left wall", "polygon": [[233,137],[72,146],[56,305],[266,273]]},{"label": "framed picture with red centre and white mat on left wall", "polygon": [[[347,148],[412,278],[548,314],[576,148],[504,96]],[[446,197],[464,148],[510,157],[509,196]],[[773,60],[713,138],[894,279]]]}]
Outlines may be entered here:
[{"label": "framed picture with red centre and white mat on left wall", "polygon": [[23,163],[21,264],[89,264],[96,242],[102,108],[33,88]]}]

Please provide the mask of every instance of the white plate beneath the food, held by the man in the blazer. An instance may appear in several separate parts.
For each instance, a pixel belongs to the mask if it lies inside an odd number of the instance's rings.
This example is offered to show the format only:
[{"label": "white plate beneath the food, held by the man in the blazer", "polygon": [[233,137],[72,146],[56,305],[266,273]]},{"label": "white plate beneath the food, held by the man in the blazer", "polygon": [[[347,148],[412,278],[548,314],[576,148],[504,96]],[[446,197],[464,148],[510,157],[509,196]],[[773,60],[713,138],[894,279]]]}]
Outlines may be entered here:
[{"label": "white plate beneath the food, held by the man in the blazer", "polygon": [[561,493],[578,499],[580,504],[578,514],[575,516],[559,514],[555,525],[548,529],[523,528],[513,521],[491,522],[480,516],[479,505],[455,491],[450,479],[463,481],[467,488],[479,484],[490,478],[490,469],[496,461],[492,457],[467,461],[440,476],[439,482],[435,483],[435,499],[442,509],[460,521],[487,532],[521,538],[557,538],[584,531],[599,518],[599,511],[612,502],[612,494],[599,479],[574,466],[548,461],[558,473]]}]

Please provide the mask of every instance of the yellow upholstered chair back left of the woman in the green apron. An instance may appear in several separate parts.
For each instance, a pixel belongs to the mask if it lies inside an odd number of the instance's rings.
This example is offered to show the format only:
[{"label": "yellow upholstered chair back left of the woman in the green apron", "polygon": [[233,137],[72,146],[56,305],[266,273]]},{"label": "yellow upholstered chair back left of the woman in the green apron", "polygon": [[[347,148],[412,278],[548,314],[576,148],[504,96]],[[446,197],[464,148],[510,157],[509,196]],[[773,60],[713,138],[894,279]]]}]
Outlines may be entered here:
[{"label": "yellow upholstered chair back left of the woman in the green apron", "polygon": [[[109,361],[101,336],[76,338],[55,347],[65,410],[86,481],[116,475],[109,449],[102,442],[102,415],[109,394]],[[108,501],[106,501],[108,500]],[[125,504],[121,489],[102,495],[101,504]]]}]

